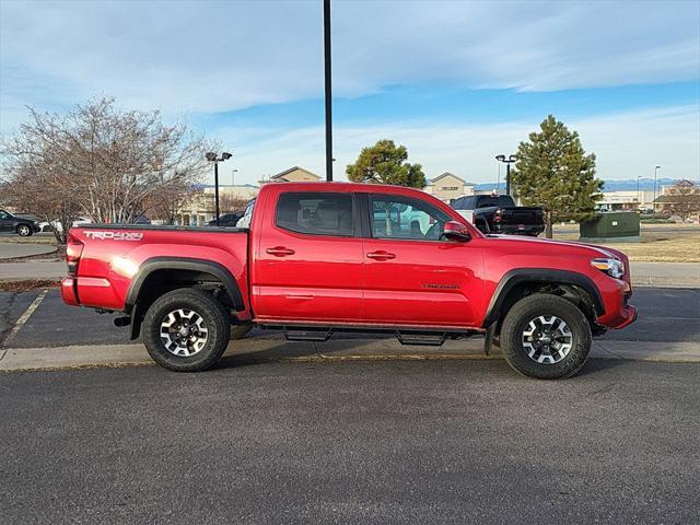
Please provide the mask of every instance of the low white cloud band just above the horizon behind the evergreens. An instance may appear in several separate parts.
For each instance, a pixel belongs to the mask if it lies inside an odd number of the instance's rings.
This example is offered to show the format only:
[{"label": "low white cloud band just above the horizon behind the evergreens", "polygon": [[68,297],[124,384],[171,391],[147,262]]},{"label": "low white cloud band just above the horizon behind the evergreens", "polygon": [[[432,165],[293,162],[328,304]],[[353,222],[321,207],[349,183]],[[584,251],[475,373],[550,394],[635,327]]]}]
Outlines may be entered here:
[{"label": "low white cloud band just above the horizon behind the evergreens", "polygon": [[[565,122],[580,132],[584,149],[595,152],[598,176],[629,179],[651,176],[661,164],[673,178],[700,176],[700,109],[677,107],[575,119]],[[429,177],[453,172],[470,182],[495,180],[494,155],[514,153],[521,140],[538,129],[539,121],[442,126],[396,122],[372,127],[343,127],[335,131],[335,175],[345,178],[345,166],[362,147],[389,138],[405,144],[409,160],[420,162]],[[220,130],[226,143],[240,144],[231,167],[236,179],[254,183],[262,175],[301,165],[324,175],[323,127],[280,132],[246,143],[237,130]]]}]

